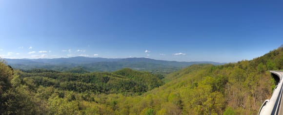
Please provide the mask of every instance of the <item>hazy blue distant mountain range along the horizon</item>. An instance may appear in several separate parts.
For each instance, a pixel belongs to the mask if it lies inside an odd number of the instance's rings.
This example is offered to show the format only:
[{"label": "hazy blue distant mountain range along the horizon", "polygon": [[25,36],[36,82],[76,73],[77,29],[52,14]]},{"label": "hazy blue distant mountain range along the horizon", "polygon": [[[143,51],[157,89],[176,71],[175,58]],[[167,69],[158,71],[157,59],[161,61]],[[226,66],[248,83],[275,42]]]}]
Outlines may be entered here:
[{"label": "hazy blue distant mountain range along the horizon", "polygon": [[182,67],[194,64],[222,65],[217,62],[177,62],[154,60],[150,58],[90,58],[70,57],[54,59],[4,59],[8,65],[23,70],[34,68],[66,71],[76,67],[82,67],[87,71],[116,71],[122,68],[132,68],[146,71],[174,71]]}]

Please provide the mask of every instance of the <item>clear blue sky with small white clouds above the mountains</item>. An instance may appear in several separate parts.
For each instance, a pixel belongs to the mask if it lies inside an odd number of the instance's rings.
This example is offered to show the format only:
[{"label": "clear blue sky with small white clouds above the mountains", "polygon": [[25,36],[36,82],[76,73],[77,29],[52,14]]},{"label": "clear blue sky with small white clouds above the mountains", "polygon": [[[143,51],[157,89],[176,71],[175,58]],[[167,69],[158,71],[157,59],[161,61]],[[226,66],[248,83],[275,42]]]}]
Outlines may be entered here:
[{"label": "clear blue sky with small white clouds above the mountains", "polygon": [[0,0],[0,57],[250,60],[283,44],[282,4],[282,0]]}]

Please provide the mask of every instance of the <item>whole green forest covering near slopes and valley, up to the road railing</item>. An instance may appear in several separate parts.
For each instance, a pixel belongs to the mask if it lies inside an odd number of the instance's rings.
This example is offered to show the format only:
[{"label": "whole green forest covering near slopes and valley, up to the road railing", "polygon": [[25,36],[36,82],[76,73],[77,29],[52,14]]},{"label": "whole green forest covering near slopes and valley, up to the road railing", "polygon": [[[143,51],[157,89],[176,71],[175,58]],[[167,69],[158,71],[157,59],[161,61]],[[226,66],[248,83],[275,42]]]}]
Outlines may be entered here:
[{"label": "whole green forest covering near slopes and valley, up to the road railing", "polygon": [[283,69],[283,48],[238,63],[167,76],[124,68],[20,71],[0,63],[2,115],[256,115]]}]

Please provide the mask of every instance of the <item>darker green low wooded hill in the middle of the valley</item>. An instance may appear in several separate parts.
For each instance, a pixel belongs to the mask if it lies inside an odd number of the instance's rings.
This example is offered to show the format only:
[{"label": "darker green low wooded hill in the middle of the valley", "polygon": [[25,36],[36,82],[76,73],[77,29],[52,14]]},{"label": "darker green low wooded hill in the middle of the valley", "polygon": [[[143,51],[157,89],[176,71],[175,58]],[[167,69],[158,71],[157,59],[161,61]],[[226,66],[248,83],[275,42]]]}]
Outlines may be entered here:
[{"label": "darker green low wooded hill in the middle of the valley", "polygon": [[[163,84],[156,75],[132,69],[122,69],[113,73],[65,73],[31,70],[20,72],[20,77],[32,87],[53,86],[60,90],[75,92],[93,92],[95,94],[124,93],[129,95],[142,94]],[[123,73],[119,74],[119,73]],[[33,86],[34,85],[34,86]]]}]

